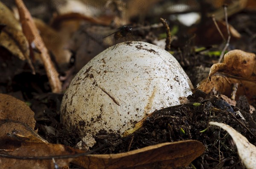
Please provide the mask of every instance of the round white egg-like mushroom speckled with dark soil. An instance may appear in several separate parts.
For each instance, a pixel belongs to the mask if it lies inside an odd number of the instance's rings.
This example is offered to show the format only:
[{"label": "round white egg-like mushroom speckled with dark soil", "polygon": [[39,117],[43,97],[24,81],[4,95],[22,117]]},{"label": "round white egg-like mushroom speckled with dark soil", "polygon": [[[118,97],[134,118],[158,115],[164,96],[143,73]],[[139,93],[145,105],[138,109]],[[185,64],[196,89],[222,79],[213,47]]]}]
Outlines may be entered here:
[{"label": "round white egg-like mushroom speckled with dark soil", "polygon": [[106,49],[74,77],[61,103],[61,121],[81,137],[119,133],[164,107],[180,104],[192,84],[177,60],[146,42]]}]

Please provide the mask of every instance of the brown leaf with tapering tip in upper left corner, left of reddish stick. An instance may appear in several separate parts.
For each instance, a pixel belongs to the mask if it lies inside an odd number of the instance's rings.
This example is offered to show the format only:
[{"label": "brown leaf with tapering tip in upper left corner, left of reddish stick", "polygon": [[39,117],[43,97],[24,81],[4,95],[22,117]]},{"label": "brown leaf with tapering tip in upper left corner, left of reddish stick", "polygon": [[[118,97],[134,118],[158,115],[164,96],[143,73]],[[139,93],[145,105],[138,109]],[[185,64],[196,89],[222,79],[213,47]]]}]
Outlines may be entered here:
[{"label": "brown leaf with tapering tip in upper left corner, left of reddish stick", "polygon": [[14,17],[12,11],[0,1],[0,23],[5,24],[0,34],[0,45],[8,49],[13,55],[21,60],[27,60],[35,74],[35,68],[29,57],[29,43],[22,32],[20,23]]}]

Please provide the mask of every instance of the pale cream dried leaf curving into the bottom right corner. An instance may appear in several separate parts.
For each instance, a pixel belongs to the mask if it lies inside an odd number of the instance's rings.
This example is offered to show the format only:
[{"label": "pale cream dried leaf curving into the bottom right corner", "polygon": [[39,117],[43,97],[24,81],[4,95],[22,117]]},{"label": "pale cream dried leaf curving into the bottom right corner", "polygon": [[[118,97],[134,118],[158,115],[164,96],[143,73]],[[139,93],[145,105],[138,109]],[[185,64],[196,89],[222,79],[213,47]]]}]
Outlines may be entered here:
[{"label": "pale cream dried leaf curving into the bottom right corner", "polygon": [[241,135],[239,132],[237,132],[227,124],[213,121],[210,121],[209,124],[216,125],[218,127],[221,127],[223,130],[226,130],[233,138],[237,147],[239,157],[244,163],[244,166],[247,169],[256,168],[256,146],[250,144],[247,138],[245,138],[243,135]]}]

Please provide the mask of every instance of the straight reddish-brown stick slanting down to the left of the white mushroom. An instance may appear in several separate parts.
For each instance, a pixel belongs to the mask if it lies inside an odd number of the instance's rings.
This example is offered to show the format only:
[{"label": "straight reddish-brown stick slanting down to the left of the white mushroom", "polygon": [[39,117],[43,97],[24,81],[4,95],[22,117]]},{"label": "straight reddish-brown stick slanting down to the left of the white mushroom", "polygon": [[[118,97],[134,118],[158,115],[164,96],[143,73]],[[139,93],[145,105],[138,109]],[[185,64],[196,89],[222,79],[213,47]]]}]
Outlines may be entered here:
[{"label": "straight reddish-brown stick slanting down to the left of the white mushroom", "polygon": [[38,29],[35,26],[32,17],[27,10],[25,4],[22,0],[15,0],[19,15],[20,15],[20,22],[23,28],[23,32],[27,37],[30,43],[34,43],[36,48],[41,52],[41,60],[44,63],[44,68],[46,72],[48,72],[48,79],[49,84],[52,89],[53,93],[60,93],[61,92],[61,81],[59,79],[58,71],[55,69],[52,60],[48,54],[48,50],[44,45],[43,39],[41,38]]}]

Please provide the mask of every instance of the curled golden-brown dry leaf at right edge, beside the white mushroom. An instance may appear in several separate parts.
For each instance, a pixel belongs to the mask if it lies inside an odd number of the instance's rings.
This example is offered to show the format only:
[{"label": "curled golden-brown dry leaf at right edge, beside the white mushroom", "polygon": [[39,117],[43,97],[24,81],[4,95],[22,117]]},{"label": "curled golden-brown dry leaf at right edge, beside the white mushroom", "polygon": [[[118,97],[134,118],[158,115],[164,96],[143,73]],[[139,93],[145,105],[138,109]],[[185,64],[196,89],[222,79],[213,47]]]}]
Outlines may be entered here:
[{"label": "curled golden-brown dry leaf at right edge, beside the white mushroom", "polygon": [[[215,75],[217,72],[224,74]],[[241,50],[229,51],[223,63],[212,65],[209,79],[204,79],[198,89],[209,93],[213,87],[226,96],[232,93],[232,85],[238,83],[236,96],[245,95],[249,103],[256,96],[256,56]]]}]

